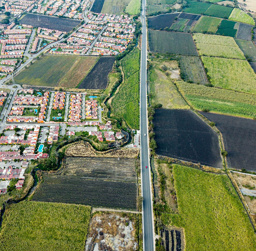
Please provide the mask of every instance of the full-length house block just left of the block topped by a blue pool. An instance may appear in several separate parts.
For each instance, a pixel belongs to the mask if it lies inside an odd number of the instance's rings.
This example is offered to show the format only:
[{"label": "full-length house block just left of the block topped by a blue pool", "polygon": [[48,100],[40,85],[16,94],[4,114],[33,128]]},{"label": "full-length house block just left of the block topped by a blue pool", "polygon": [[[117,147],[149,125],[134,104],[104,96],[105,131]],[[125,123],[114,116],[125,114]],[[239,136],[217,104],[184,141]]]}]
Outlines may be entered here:
[{"label": "full-length house block just left of the block topped by a blue pool", "polygon": [[70,94],[68,122],[80,122],[82,110],[81,93]]}]

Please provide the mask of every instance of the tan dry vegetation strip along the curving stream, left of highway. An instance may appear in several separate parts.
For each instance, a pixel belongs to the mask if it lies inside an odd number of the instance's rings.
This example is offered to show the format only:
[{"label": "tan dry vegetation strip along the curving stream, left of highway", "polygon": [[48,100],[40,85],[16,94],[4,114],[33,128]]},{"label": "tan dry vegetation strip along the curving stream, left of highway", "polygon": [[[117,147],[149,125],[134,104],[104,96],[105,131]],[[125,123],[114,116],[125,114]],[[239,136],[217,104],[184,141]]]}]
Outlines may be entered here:
[{"label": "tan dry vegetation strip along the curving stream, left of highway", "polygon": [[65,151],[67,157],[98,157],[98,158],[136,158],[139,155],[139,149],[118,148],[108,151],[96,151],[89,143],[79,141],[70,144]]}]

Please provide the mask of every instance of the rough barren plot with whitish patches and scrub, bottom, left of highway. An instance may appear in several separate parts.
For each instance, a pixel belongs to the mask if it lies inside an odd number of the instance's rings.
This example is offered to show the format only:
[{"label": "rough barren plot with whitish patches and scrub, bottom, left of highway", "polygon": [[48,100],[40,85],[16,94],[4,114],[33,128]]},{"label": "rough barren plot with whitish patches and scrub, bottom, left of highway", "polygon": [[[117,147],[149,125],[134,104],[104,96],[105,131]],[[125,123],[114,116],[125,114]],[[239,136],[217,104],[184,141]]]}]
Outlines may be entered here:
[{"label": "rough barren plot with whitish patches and scrub, bottom, left of highway", "polygon": [[138,250],[134,214],[96,213],[89,225],[85,250]]}]

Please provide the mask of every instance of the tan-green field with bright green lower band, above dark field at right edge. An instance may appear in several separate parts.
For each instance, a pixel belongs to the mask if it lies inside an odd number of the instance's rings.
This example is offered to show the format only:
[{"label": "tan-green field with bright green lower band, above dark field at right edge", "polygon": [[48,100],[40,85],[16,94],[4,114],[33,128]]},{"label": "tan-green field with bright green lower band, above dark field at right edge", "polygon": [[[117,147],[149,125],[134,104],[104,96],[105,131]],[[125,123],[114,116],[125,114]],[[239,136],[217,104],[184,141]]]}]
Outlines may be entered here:
[{"label": "tan-green field with bright green lower band, above dark field at right edge", "polygon": [[256,115],[256,96],[204,85],[176,81],[176,85],[194,109],[245,118]]}]

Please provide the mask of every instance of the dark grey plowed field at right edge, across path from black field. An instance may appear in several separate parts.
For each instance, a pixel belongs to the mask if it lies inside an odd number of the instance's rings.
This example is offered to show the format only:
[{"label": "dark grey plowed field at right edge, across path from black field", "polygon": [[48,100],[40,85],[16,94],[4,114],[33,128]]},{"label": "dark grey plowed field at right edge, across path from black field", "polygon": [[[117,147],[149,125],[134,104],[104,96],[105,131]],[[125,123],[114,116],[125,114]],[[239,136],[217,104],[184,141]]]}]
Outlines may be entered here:
[{"label": "dark grey plowed field at right edge, across path from black field", "polygon": [[256,171],[256,121],[214,113],[204,113],[206,118],[216,123],[220,130],[227,161],[230,168],[245,168]]}]

